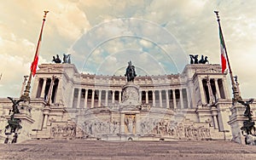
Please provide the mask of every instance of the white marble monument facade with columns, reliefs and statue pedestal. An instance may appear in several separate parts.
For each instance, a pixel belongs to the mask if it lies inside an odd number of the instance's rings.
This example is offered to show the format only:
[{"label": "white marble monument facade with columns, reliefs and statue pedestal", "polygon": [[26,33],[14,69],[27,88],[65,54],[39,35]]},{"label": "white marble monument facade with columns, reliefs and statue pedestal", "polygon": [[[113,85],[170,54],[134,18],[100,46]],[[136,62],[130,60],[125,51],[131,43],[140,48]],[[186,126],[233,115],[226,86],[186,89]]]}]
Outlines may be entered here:
[{"label": "white marble monument facade with columns, reliefs and statue pedestal", "polygon": [[[79,73],[70,63],[40,65],[26,111],[31,123],[22,126],[26,136],[241,142],[237,128],[242,121],[234,117],[242,117],[245,108],[231,108],[227,73],[222,74],[221,66],[189,64],[180,74],[160,76],[137,76],[135,69],[129,62],[126,77],[100,76]],[[0,106],[4,140],[12,104],[1,99]],[[255,108],[251,104],[251,110]]]}]

